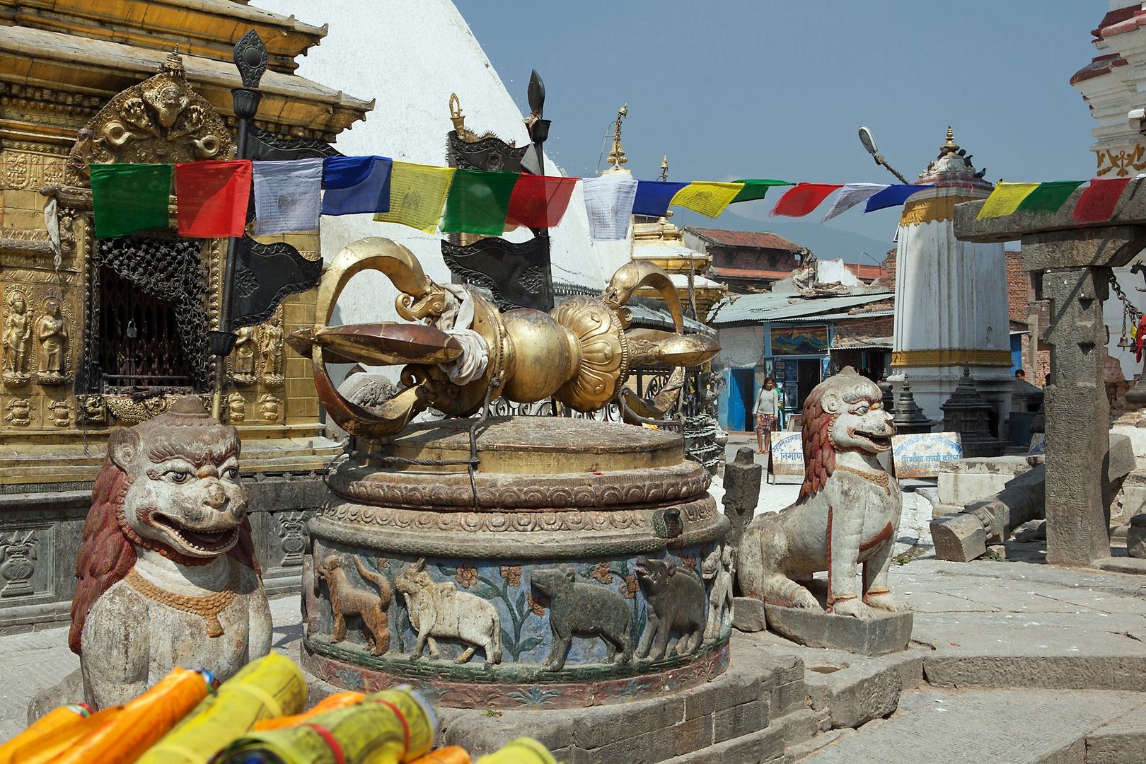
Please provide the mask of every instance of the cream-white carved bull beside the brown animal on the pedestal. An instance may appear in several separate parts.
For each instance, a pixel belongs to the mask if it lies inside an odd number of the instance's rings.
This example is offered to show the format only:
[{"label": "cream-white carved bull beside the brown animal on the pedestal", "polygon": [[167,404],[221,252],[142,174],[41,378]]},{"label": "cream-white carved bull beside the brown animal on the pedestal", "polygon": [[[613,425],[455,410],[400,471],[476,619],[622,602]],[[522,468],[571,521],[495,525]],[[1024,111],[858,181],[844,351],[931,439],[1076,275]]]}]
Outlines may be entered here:
[{"label": "cream-white carved bull beside the brown animal on the pedestal", "polygon": [[[430,639],[457,639],[468,647],[457,663],[469,661],[478,647],[486,653],[486,665],[501,663],[501,616],[492,604],[469,592],[457,591],[453,583],[435,583],[419,559],[394,578],[394,585],[406,601],[410,625],[417,631],[410,657],[417,660]],[[431,645],[431,656],[434,654]]]}]

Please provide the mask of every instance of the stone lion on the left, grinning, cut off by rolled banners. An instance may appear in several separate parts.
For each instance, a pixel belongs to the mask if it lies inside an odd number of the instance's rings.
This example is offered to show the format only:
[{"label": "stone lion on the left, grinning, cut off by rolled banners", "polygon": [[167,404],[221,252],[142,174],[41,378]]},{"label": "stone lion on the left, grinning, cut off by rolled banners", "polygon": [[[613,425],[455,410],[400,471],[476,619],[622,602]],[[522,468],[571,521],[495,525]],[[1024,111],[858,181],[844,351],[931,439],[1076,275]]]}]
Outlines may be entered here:
[{"label": "stone lion on the left, grinning, cut off by rolled banners", "polygon": [[134,698],[176,665],[223,680],[270,651],[240,446],[194,396],[111,432],[68,639],[93,708]]}]

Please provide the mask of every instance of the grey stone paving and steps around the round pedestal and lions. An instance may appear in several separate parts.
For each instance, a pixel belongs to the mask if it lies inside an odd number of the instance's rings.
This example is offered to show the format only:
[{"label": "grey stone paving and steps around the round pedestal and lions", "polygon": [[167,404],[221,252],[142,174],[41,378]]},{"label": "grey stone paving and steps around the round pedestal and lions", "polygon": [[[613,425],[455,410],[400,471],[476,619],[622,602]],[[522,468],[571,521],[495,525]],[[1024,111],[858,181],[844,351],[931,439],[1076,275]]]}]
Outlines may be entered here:
[{"label": "grey stone paving and steps around the round pedestal and lions", "polygon": [[[482,754],[529,725],[566,764],[1146,761],[1140,577],[923,558],[893,567],[892,585],[915,608],[903,653],[864,657],[737,632],[725,675],[692,690],[583,709],[528,696],[521,710],[442,709],[442,740]],[[297,660],[298,599],[272,600],[272,613],[275,649]],[[77,665],[65,629],[0,636],[0,739],[24,727],[32,695]],[[330,691],[313,682],[312,702]],[[904,737],[915,743],[888,742]]]}]

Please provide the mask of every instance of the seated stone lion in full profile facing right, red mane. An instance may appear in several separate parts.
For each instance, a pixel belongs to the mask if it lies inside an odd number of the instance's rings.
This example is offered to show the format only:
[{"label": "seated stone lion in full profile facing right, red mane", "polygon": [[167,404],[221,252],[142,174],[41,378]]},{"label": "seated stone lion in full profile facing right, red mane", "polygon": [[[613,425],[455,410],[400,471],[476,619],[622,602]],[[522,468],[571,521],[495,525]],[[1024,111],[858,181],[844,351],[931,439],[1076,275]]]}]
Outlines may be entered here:
[{"label": "seated stone lion in full profile facing right, red mane", "polygon": [[808,395],[800,498],[745,530],[737,575],[746,596],[821,609],[796,582],[826,570],[829,613],[870,619],[874,611],[902,609],[887,582],[902,499],[877,458],[890,450],[895,434],[881,400],[879,387],[851,367]]}]

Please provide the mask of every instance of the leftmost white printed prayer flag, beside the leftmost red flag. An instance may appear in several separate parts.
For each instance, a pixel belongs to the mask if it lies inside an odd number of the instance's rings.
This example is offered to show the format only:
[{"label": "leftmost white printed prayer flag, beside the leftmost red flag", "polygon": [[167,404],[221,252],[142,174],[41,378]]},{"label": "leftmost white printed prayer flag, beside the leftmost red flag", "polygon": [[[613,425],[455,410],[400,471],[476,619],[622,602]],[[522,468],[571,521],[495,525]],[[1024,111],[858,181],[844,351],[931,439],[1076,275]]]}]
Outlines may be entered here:
[{"label": "leftmost white printed prayer flag, beside the leftmost red flag", "polygon": [[322,191],[322,157],[252,163],[254,233],[292,234],[317,230]]}]

